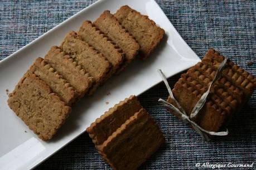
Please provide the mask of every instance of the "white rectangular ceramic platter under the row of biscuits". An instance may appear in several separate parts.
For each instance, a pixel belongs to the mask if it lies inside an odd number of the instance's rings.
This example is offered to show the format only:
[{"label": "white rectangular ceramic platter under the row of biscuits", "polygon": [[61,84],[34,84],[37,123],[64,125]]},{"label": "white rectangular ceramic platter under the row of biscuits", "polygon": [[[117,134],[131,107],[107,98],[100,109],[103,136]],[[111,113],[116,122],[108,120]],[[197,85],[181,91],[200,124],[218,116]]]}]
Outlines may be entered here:
[{"label": "white rectangular ceramic platter under the row of biscuits", "polygon": [[[165,30],[165,38],[147,60],[134,60],[93,96],[85,97],[75,105],[70,117],[52,140],[44,142],[38,139],[9,109],[6,89],[12,91],[36,57],[44,57],[51,46],[59,45],[67,32],[78,30],[85,20],[94,21],[106,9],[115,13],[125,4],[147,14]],[[114,104],[130,95],[139,95],[161,82],[157,69],[162,69],[170,77],[198,61],[199,57],[182,40],[155,1],[102,0],[92,4],[0,62],[0,169],[32,169],[84,133],[96,118]]]}]

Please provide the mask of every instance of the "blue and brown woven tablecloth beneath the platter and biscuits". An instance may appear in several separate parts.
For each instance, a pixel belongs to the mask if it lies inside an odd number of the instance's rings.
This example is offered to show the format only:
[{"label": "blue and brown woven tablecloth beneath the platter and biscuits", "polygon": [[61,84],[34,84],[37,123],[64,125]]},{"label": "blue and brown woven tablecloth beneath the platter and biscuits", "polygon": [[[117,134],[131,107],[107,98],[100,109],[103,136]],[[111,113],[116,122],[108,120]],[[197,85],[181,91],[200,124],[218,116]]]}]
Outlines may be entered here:
[{"label": "blue and brown woven tablecloth beneath the platter and biscuits", "polygon": [[[95,1],[1,1],[0,60]],[[157,1],[189,46],[202,57],[214,47],[256,75],[255,1]],[[248,62],[254,64],[248,66]],[[180,75],[169,79],[173,86]],[[0,80],[1,81],[1,80]],[[139,96],[165,134],[166,144],[140,169],[198,169],[196,163],[252,163],[256,168],[256,95],[229,126],[227,137],[204,142],[160,105],[163,83]],[[84,133],[36,169],[110,169]],[[203,168],[206,169],[206,168]]]}]

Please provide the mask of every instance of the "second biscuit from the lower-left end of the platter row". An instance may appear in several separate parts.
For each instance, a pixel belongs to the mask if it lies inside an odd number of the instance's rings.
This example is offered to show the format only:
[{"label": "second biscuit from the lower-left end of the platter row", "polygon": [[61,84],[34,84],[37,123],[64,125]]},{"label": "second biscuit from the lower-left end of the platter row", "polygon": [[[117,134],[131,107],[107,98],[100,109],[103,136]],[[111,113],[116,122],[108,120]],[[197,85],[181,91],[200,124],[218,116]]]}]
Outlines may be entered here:
[{"label": "second biscuit from the lower-left end of the platter row", "polygon": [[71,105],[78,94],[75,89],[67,82],[59,73],[51,67],[50,64],[42,58],[37,58],[32,64],[28,72],[38,76],[50,86],[52,91],[56,93],[62,101],[67,105]]}]

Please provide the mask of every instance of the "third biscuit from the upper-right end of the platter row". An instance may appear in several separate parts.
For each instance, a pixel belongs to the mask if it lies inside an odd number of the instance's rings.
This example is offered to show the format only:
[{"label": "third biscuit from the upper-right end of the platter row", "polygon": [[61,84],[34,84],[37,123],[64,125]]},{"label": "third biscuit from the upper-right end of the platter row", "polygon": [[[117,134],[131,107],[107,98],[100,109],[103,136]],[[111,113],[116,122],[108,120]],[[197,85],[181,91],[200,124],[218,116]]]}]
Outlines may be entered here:
[{"label": "third biscuit from the upper-right end of the platter row", "polygon": [[112,64],[111,73],[114,74],[124,60],[123,51],[117,45],[114,45],[114,43],[90,21],[83,22],[78,31],[78,35],[83,41],[94,47],[108,59]]}]

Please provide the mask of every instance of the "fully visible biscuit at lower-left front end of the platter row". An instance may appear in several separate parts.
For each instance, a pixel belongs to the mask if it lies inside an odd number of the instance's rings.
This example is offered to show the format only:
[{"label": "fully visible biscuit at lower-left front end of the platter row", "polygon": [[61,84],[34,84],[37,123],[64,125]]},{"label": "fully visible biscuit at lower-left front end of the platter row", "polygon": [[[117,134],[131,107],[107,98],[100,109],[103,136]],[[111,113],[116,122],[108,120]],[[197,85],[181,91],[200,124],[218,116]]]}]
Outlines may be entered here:
[{"label": "fully visible biscuit at lower-left front end of the platter row", "polygon": [[9,107],[42,140],[49,140],[64,124],[71,108],[34,74],[25,74],[9,94]]}]

